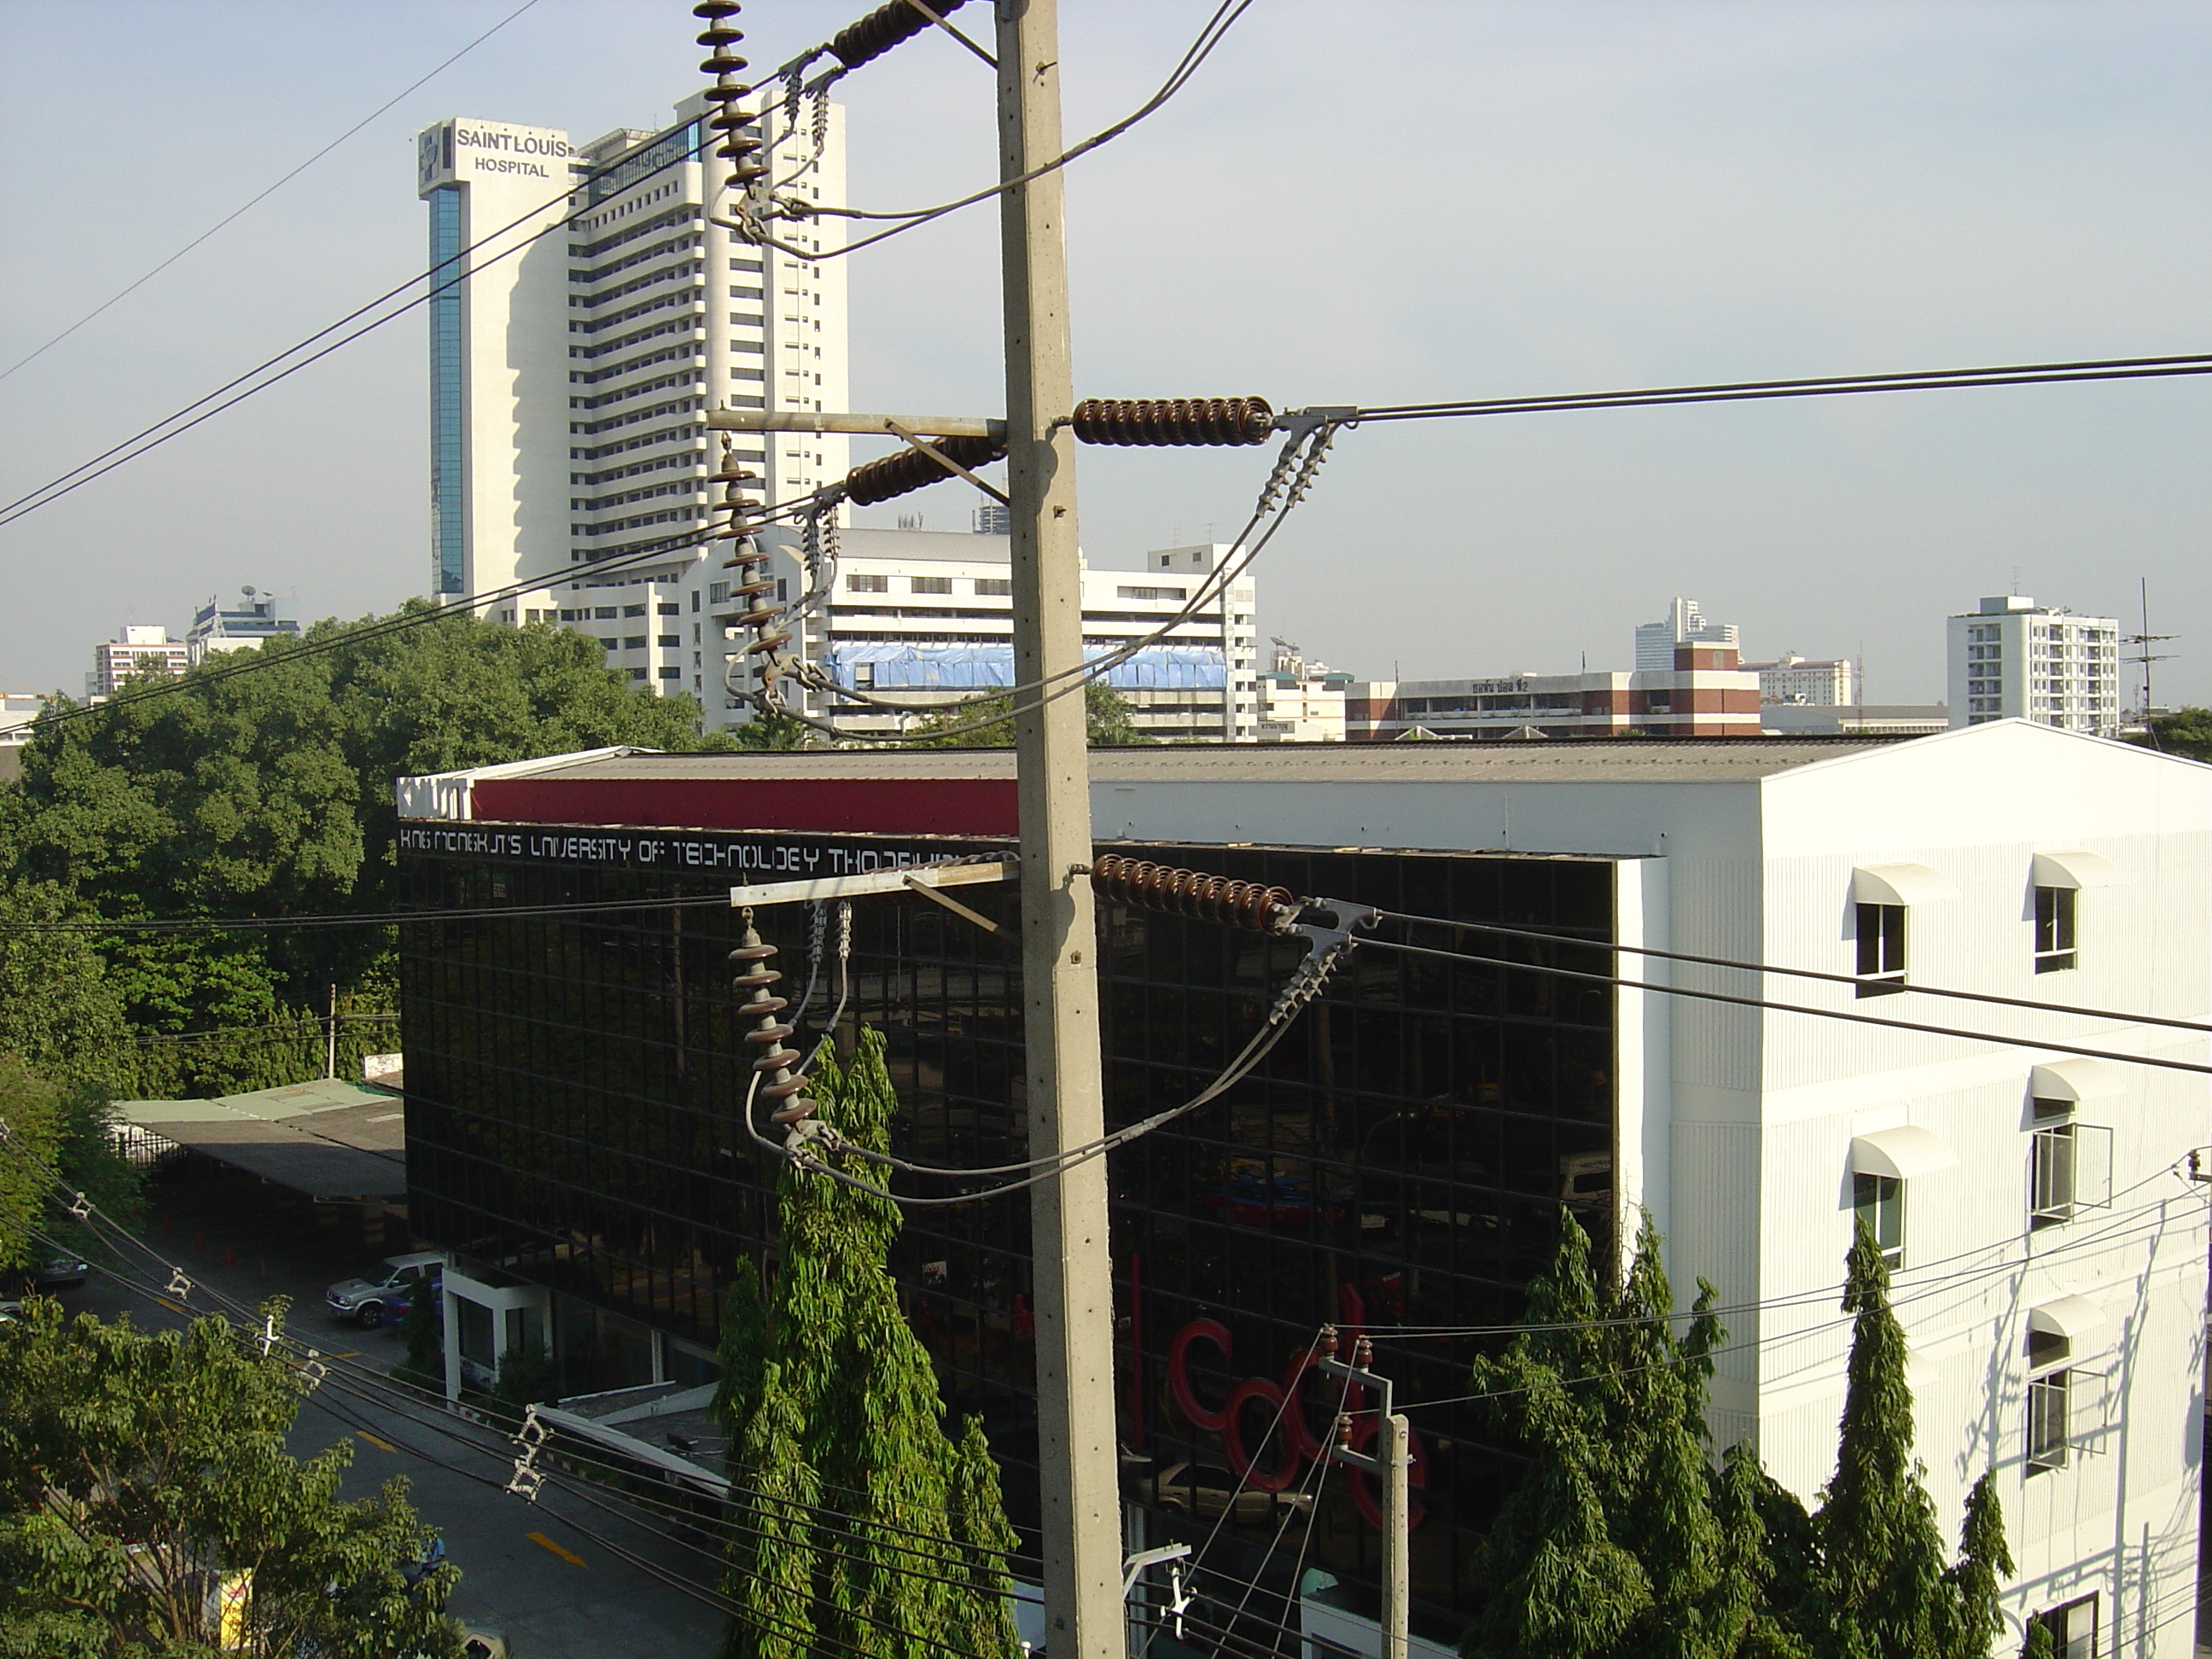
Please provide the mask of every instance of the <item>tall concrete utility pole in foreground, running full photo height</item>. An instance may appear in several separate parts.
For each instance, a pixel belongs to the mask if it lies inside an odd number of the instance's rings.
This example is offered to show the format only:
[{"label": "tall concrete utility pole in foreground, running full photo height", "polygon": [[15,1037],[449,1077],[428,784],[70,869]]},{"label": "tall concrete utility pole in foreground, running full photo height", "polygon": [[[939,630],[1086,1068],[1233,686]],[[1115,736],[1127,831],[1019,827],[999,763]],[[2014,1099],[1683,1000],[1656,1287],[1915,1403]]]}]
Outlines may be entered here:
[{"label": "tall concrete utility pole in foreground, running full photo height", "polygon": [[[998,0],[1000,179],[1060,159],[1055,0]],[[1060,173],[1002,197],[1006,272],[1006,495],[1013,529],[1015,686],[1051,679],[1015,714],[1022,814],[1022,1015],[1029,1155],[1097,1139],[1097,922],[1082,577],[1075,562],[1075,407]],[[1018,706],[1044,692],[1015,692]],[[1113,1274],[1106,1159],[1031,1197],[1037,1287],[1037,1467],[1044,1498],[1044,1641],[1053,1659],[1121,1659],[1121,1495],[1115,1464]]]}]

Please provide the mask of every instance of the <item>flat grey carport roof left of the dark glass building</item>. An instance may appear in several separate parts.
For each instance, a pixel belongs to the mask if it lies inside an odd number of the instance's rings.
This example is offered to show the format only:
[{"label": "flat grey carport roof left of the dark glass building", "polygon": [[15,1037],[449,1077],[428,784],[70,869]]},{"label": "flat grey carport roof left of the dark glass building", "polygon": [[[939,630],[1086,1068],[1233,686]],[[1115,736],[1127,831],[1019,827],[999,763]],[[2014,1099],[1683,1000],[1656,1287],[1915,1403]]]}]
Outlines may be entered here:
[{"label": "flat grey carport roof left of the dark glass building", "polygon": [[217,1099],[122,1099],[115,1117],[312,1199],[407,1194],[400,1095],[321,1079]]}]

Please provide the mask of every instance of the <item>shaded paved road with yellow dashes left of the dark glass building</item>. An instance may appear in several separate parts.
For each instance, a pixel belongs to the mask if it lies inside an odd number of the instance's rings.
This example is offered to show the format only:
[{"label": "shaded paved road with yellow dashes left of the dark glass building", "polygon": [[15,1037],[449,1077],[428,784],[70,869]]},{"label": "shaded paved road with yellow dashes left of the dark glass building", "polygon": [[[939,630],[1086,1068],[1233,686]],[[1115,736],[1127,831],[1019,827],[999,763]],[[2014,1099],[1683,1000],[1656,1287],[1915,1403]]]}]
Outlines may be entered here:
[{"label": "shaded paved road with yellow dashes left of the dark glass building", "polygon": [[[323,1287],[387,1250],[403,1250],[405,1241],[365,1248],[349,1225],[334,1232],[319,1225],[314,1212],[259,1203],[250,1190],[177,1190],[161,1199],[168,1230],[157,1217],[146,1228],[148,1245],[199,1285],[241,1303],[292,1296],[292,1334],[334,1358],[345,1356],[334,1380],[310,1396],[292,1449],[307,1455],[352,1440],[347,1498],[363,1498],[392,1475],[407,1478],[409,1500],[440,1528],[447,1559],[460,1568],[449,1604],[458,1619],[504,1630],[515,1659],[710,1659],[719,1650],[721,1613],[624,1562],[608,1544],[637,1553],[657,1573],[708,1588],[712,1559],[641,1524],[637,1511],[615,1498],[599,1498],[617,1511],[606,1513],[553,1489],[538,1504],[509,1495],[513,1444],[434,1407],[396,1409],[383,1385],[363,1376],[383,1378],[400,1360],[398,1332],[338,1325],[323,1312]],[[131,1276],[164,1279],[137,1265]],[[206,1292],[188,1301],[201,1310],[210,1305]],[[106,1318],[131,1312],[139,1325],[177,1323],[175,1312],[144,1292],[100,1274],[82,1290],[62,1292],[62,1303]]]}]

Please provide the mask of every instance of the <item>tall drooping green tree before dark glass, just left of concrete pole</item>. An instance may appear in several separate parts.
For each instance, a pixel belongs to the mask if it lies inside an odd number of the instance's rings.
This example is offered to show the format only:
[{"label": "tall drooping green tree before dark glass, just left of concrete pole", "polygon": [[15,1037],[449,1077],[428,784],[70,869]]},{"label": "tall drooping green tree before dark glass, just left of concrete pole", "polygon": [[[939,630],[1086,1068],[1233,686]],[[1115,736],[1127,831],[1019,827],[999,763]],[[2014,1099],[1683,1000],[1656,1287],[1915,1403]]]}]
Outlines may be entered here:
[{"label": "tall drooping green tree before dark glass, just left of concrete pole", "polygon": [[[849,1066],[825,1060],[812,1093],[849,1146],[887,1148],[894,1095],[876,1031]],[[852,1152],[830,1157],[876,1179]],[[723,1429],[759,1493],[730,1544],[728,1659],[799,1659],[814,1644],[880,1659],[1018,1652],[989,1447],[973,1422],[947,1438],[929,1354],[885,1265],[898,1206],[785,1166],[776,1219],[774,1287],[763,1298],[741,1281],[723,1332]],[[940,1559],[916,1571],[916,1551]]]}]

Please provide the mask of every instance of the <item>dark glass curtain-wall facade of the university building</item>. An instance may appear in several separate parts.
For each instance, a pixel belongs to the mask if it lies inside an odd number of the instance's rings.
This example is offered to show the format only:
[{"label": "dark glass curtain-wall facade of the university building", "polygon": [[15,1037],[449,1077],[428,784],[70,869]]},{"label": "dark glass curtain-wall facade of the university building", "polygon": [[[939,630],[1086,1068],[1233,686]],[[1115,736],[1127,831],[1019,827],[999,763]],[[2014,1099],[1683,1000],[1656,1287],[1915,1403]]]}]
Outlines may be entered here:
[{"label": "dark glass curtain-wall facade of the university building", "polygon": [[[750,1062],[728,984],[737,920],[712,900],[732,880],[779,878],[790,838],[681,832],[684,874],[668,852],[646,852],[655,845],[670,838],[403,827],[414,907],[639,905],[403,929],[414,1228],[555,1292],[566,1394],[708,1378],[732,1267],[774,1265],[774,1170],[737,1121]],[[980,849],[991,847],[852,836],[823,847],[823,867]],[[1493,956],[1608,962],[1606,858],[1115,849],[1562,940],[1486,947]],[[708,902],[668,907],[684,896]],[[960,896],[1018,920],[1011,887]],[[779,993],[796,1000],[814,918],[794,905],[759,925],[783,947]],[[1102,951],[1108,1119],[1126,1124],[1212,1082],[1303,942],[1106,907]],[[801,1026],[843,1004],[847,1040],[858,1024],[885,1033],[898,1150],[956,1166],[1024,1157],[1018,929],[987,933],[914,896],[863,898],[849,962],[834,945],[825,958]],[[1473,1537],[1515,1464],[1475,1407],[1418,1405],[1467,1394],[1473,1343],[1398,1327],[1517,1318],[1562,1203],[1610,1248],[1613,1071],[1608,987],[1354,951],[1252,1077],[1115,1155],[1124,1489],[1155,1542],[1221,1522],[1214,1548],[1234,1571],[1259,1564],[1285,1515],[1312,1511],[1307,1566],[1371,1584],[1376,1493],[1340,1467],[1316,1482],[1312,1460],[1345,1396],[1307,1369],[1323,1323],[1347,1338],[1371,1332],[1376,1367],[1413,1402],[1422,1621],[1453,1635],[1447,1608],[1469,1601]],[[1026,1199],[1009,1194],[911,1212],[894,1261],[947,1400],[982,1416],[1024,1526],[1035,1522],[1026,1239]],[[1281,1551],[1274,1571],[1287,1571]]]}]

